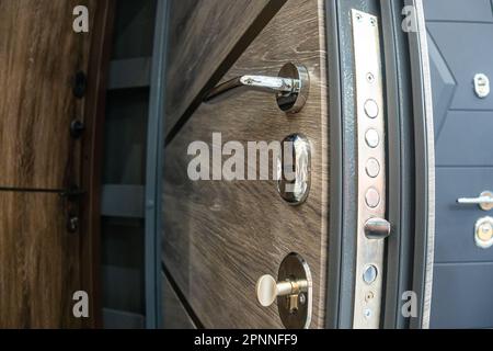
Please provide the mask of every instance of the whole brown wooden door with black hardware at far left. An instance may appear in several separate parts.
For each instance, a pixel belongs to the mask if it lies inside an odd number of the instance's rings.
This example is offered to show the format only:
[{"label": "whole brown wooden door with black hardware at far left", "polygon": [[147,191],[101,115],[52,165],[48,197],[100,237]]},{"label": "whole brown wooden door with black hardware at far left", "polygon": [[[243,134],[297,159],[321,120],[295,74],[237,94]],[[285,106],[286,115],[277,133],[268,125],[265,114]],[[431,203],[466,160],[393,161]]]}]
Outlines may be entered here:
[{"label": "whole brown wooden door with black hardware at far left", "polygon": [[[72,27],[77,5],[89,10],[89,33]],[[104,33],[106,5],[0,1],[2,328],[95,322],[93,238],[82,208],[93,200],[84,165],[93,160],[102,53],[94,34]],[[78,291],[90,296],[90,318],[72,312]]]}]

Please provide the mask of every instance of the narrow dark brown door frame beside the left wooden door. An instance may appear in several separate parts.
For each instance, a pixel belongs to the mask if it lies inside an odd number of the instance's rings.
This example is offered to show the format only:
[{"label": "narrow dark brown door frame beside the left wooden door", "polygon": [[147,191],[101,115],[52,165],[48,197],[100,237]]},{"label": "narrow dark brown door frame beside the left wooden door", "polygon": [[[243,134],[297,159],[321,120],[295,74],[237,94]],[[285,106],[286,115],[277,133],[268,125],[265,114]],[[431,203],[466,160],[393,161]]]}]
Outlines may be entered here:
[{"label": "narrow dark brown door frame beside the left wooden door", "polygon": [[80,188],[81,202],[81,280],[90,296],[84,328],[102,328],[101,304],[101,170],[103,160],[106,86],[110,71],[115,0],[98,1],[91,31],[95,33],[90,48],[88,88],[84,102],[84,138],[82,140]]}]

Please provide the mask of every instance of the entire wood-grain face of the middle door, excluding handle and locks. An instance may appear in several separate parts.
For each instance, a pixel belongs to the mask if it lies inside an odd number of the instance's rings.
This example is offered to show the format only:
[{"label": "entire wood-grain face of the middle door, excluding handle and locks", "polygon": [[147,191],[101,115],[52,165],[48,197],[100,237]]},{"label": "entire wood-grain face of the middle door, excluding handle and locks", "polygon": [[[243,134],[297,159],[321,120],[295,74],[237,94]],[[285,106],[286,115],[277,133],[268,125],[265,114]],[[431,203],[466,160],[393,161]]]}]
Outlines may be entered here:
[{"label": "entire wood-grain face of the middle door, excluding handle and locks", "polygon": [[[207,328],[283,327],[276,304],[257,303],[255,284],[264,274],[277,279],[291,252],[306,260],[311,273],[309,325],[323,327],[329,131],[320,3],[190,1],[187,9],[182,1],[173,2],[172,21],[177,23],[171,27],[182,34],[170,34],[176,39],[171,39],[168,69],[163,262]],[[291,26],[294,20],[302,23],[301,30]],[[202,103],[204,92],[219,82],[242,75],[276,77],[287,63],[303,65],[310,76],[309,99],[299,113],[283,112],[273,93],[246,92]],[[223,181],[222,176],[193,181],[187,174],[197,156],[187,155],[194,141],[210,146],[213,155],[221,154],[228,141],[246,149],[248,141],[271,144],[295,133],[311,141],[311,189],[302,205],[283,200],[272,167],[270,180],[263,181],[256,173],[250,181]],[[244,177],[254,166],[245,157]],[[222,174],[218,163],[210,169]]]}]

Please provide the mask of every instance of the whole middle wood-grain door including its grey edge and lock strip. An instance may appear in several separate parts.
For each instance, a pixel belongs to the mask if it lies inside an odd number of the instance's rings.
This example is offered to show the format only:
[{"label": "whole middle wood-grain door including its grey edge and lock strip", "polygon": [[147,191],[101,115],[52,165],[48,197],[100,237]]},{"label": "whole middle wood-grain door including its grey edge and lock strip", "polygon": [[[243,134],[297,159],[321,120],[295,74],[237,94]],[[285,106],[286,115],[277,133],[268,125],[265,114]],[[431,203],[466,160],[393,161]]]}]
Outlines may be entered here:
[{"label": "whole middle wood-grain door including its grey edge and lock strip", "polygon": [[171,1],[164,320],[425,325],[433,137],[405,3]]}]

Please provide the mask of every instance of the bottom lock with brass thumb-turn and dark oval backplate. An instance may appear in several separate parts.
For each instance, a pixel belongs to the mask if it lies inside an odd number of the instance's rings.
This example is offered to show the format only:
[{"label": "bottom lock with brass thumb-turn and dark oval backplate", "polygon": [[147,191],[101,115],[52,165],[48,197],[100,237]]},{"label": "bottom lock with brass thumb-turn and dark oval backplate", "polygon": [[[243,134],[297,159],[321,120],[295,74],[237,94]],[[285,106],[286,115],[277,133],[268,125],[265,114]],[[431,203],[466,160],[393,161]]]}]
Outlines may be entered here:
[{"label": "bottom lock with brass thumb-turn and dark oval backplate", "polygon": [[256,298],[263,307],[277,299],[277,309],[288,329],[308,328],[311,322],[311,274],[307,262],[297,253],[280,263],[277,281],[262,275],[255,286]]}]

